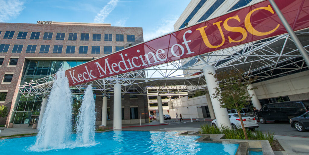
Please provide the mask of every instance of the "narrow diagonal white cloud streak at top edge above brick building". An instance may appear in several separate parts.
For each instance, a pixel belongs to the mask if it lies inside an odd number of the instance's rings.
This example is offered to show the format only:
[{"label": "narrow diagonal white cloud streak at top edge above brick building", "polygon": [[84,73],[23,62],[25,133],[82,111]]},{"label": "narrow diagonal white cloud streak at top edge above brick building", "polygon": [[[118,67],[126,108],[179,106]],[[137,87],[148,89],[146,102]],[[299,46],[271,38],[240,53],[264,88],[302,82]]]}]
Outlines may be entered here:
[{"label": "narrow diagonal white cloud streak at top edge above brick building", "polygon": [[93,22],[103,23],[105,18],[115,9],[119,0],[111,0],[103,7],[102,10],[95,16]]}]

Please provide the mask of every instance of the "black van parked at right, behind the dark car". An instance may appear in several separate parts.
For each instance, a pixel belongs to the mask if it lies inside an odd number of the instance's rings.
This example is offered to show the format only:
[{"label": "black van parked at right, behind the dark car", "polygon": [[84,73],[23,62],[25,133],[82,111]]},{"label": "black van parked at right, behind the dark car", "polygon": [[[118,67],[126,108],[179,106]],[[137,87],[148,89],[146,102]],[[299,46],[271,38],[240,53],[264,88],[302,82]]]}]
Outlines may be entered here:
[{"label": "black van parked at right, behind the dark car", "polygon": [[302,101],[288,101],[263,105],[261,111],[256,112],[259,121],[265,124],[268,120],[288,121],[308,111],[308,106]]}]

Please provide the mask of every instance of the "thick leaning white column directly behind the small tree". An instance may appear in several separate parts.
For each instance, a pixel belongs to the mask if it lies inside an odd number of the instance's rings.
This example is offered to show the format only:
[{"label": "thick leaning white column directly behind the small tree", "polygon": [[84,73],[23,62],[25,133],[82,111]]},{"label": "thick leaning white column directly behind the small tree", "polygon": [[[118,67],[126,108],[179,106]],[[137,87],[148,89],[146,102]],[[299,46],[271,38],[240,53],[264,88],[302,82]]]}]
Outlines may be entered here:
[{"label": "thick leaning white column directly behind the small tree", "polygon": [[[203,67],[203,71],[204,71],[205,80],[207,83],[209,94],[213,94],[215,93],[214,88],[218,87],[218,82],[216,82],[216,79],[214,78],[213,75],[210,75],[208,73],[210,72],[210,73],[216,74],[216,71],[214,70],[214,67],[211,65],[206,65],[205,67]],[[231,128],[231,121],[227,114],[226,108],[221,108],[220,102],[217,99],[210,97],[210,100],[214,108],[214,114],[217,118],[218,128],[221,128],[222,126]]]}]

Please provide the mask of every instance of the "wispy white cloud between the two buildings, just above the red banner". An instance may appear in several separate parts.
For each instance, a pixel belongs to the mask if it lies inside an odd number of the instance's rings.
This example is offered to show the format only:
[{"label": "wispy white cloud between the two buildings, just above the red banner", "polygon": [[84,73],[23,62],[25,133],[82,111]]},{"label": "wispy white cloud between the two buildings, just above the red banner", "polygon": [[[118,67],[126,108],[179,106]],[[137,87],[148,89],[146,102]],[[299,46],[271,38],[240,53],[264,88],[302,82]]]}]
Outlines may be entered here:
[{"label": "wispy white cloud between the two buildings, just above the red banner", "polygon": [[161,23],[158,24],[160,26],[156,27],[155,30],[144,32],[144,41],[174,31],[174,24],[177,21],[177,19],[178,19],[177,17],[162,19]]}]

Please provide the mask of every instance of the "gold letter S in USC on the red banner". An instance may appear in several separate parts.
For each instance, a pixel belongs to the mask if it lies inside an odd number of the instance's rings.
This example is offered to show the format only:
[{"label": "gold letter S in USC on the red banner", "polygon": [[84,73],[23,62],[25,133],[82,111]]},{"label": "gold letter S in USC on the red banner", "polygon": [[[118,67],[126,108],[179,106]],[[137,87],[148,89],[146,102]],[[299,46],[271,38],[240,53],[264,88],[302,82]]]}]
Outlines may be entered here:
[{"label": "gold letter S in USC on the red banner", "polygon": [[228,26],[227,21],[230,20],[230,19],[236,19],[237,21],[240,22],[240,19],[239,19],[238,15],[236,15],[236,16],[234,16],[234,17],[227,18],[227,19],[223,22],[223,27],[224,27],[227,31],[231,31],[231,32],[240,32],[240,33],[243,35],[243,38],[240,39],[240,40],[233,40],[233,39],[231,39],[230,36],[228,36],[230,43],[231,43],[231,42],[233,42],[233,43],[238,43],[238,42],[241,42],[241,41],[243,41],[244,39],[246,39],[246,38],[247,38],[247,31],[246,31],[244,28],[242,28],[242,27],[230,27],[230,26]]}]

